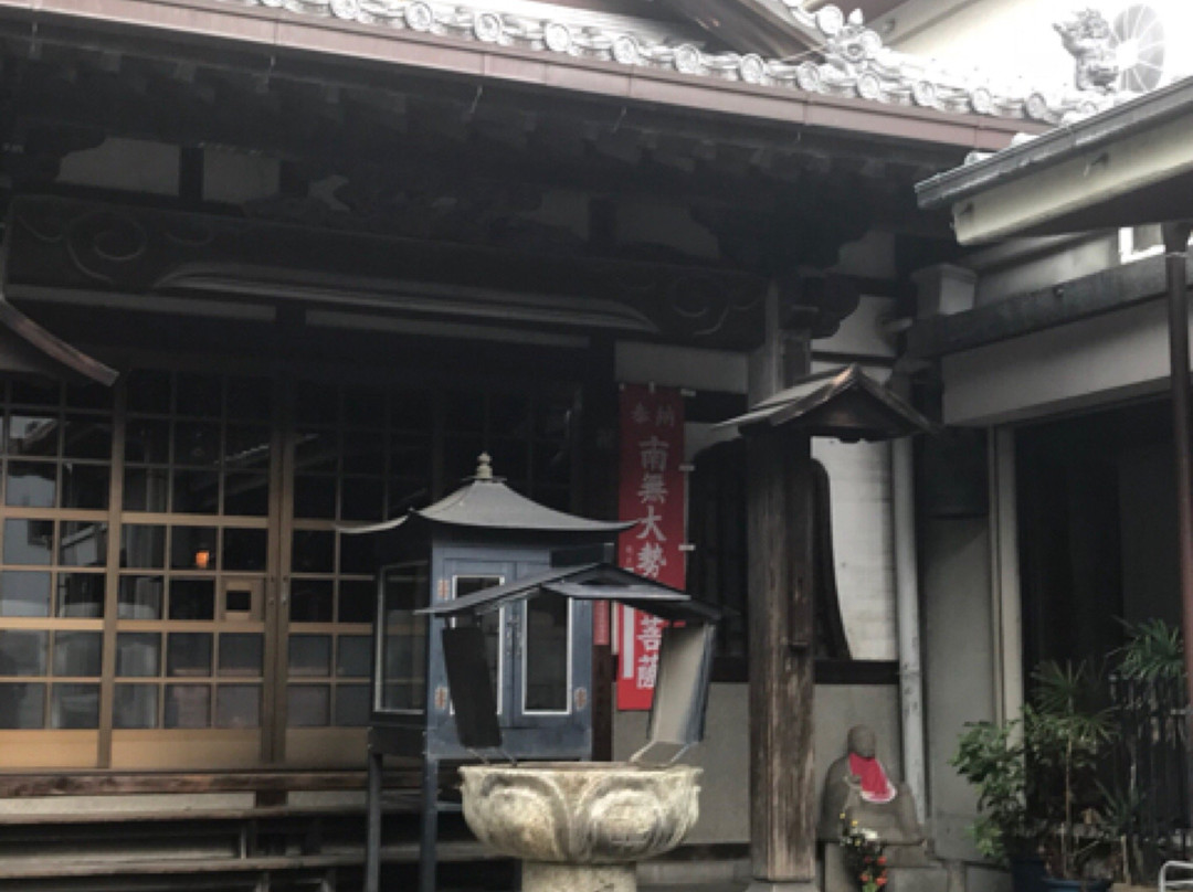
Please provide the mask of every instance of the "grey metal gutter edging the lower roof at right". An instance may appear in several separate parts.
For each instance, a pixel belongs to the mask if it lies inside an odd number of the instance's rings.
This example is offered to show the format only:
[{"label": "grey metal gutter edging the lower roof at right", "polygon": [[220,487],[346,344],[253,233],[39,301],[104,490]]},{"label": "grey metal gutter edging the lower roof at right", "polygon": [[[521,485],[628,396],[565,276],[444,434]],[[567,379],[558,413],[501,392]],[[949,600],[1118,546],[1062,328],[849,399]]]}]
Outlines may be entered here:
[{"label": "grey metal gutter edging the lower roof at right", "polygon": [[1174,118],[1193,113],[1193,79],[1177,81],[1092,118],[1062,125],[991,157],[938,174],[915,187],[920,207],[954,204],[996,185],[1062,163]]}]

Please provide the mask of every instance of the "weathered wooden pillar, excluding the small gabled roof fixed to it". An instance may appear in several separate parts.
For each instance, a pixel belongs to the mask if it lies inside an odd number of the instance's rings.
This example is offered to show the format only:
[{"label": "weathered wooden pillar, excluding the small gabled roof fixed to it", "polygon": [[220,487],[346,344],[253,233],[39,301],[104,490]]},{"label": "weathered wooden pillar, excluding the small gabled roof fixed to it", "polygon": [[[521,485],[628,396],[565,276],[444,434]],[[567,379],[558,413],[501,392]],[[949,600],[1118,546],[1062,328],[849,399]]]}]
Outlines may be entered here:
[{"label": "weathered wooden pillar, excluding the small gabled roof fixed to it", "polygon": [[[750,361],[750,403],[810,370],[809,340],[779,327]],[[812,754],[811,441],[765,429],[747,441],[752,892],[816,881]]]}]

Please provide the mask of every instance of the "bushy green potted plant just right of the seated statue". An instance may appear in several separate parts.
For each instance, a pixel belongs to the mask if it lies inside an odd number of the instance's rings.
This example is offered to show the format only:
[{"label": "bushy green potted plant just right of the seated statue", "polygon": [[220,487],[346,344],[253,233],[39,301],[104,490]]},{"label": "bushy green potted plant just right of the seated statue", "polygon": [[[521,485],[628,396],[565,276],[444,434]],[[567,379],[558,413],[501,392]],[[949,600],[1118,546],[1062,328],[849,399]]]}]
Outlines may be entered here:
[{"label": "bushy green potted plant just right of the seated statue", "polygon": [[1016,892],[1101,892],[1113,845],[1098,769],[1114,735],[1111,712],[1093,705],[1088,663],[1044,663],[1032,681],[1020,718],[971,724],[959,741],[952,764],[978,789],[971,832],[983,855],[1009,863]]}]

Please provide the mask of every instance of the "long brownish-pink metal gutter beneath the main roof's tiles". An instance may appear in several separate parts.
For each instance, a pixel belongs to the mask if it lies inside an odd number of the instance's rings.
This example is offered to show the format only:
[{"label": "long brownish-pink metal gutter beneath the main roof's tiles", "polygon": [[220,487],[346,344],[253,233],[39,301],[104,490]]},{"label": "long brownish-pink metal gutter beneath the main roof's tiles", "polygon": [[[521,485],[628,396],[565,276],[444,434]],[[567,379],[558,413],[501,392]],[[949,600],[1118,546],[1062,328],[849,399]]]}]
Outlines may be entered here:
[{"label": "long brownish-pink metal gutter beneath the main roof's tiles", "polygon": [[338,56],[551,91],[573,91],[619,103],[678,107],[730,118],[852,131],[910,142],[979,150],[1003,148],[1031,122],[872,100],[798,93],[647,67],[628,67],[579,56],[463,42],[408,30],[369,27],[336,18],[285,10],[236,6],[218,0],[0,0],[0,14],[30,20],[30,42],[50,41],[55,25],[86,23],[88,42],[100,29],[128,37],[128,29],[163,37],[212,39],[258,48],[267,61],[278,51]]}]

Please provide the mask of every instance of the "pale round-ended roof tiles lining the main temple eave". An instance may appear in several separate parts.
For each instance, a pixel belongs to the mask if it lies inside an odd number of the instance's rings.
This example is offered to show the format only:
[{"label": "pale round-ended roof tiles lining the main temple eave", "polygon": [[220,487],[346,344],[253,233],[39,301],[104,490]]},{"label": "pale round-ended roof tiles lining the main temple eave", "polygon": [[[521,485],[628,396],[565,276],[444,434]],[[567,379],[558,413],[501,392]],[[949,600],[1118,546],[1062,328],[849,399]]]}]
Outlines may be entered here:
[{"label": "pale round-ended roof tiles lining the main temple eave", "polygon": [[[933,62],[883,47],[878,32],[865,26],[860,11],[846,17],[836,6],[823,6],[809,13],[801,0],[783,0],[783,4],[804,32],[822,39],[823,45],[808,54],[818,56],[815,60],[709,52],[694,42],[673,43],[672,38],[660,37],[654,24],[643,21],[641,29],[625,24],[626,30],[622,31],[619,20],[594,25],[591,17],[576,20],[571,18],[575,11],[545,4],[524,4],[520,8],[525,12],[515,14],[432,0],[240,1],[465,41],[958,114],[1068,124],[1115,104],[1113,94],[1076,89],[1044,93],[1020,82],[995,83],[973,75],[957,75]],[[525,14],[538,10],[551,11],[560,18]]]}]

